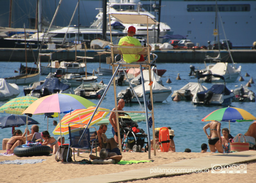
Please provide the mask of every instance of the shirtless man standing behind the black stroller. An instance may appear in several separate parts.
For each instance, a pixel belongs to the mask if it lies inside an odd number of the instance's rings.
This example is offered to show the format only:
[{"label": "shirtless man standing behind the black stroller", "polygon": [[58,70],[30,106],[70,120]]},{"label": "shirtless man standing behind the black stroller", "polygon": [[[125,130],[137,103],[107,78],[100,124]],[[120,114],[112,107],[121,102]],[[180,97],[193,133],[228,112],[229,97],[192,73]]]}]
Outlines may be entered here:
[{"label": "shirtless man standing behind the black stroller", "polygon": [[[118,105],[117,105],[117,110],[123,111],[124,105],[125,105],[124,99],[119,99]],[[116,107],[112,109],[112,111],[115,111],[115,110],[116,110]],[[121,114],[118,114],[118,115],[121,115]],[[116,143],[118,144],[116,112],[111,112],[108,120],[109,120],[110,124],[112,125],[112,133],[113,133],[114,139],[115,139]],[[124,138],[124,134],[120,134],[121,142],[122,142],[123,138]]]}]

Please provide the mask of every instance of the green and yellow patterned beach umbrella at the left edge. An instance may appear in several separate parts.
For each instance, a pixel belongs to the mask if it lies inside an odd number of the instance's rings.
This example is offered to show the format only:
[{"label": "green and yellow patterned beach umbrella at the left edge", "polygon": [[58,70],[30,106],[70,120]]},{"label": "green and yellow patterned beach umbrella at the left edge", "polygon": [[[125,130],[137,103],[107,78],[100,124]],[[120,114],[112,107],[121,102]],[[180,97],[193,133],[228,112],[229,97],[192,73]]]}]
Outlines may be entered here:
[{"label": "green and yellow patterned beach umbrella at the left edge", "polygon": [[0,107],[0,112],[21,115],[21,113],[37,99],[38,98],[36,97],[30,96],[23,96],[11,99]]}]

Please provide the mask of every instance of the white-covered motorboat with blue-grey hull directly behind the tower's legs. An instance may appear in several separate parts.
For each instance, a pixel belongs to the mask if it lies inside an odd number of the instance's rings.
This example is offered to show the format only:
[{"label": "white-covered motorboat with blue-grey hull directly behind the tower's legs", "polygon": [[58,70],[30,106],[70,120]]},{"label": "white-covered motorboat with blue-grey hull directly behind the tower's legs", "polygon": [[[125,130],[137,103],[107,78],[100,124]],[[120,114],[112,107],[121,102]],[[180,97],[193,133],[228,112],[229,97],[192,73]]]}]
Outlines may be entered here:
[{"label": "white-covered motorboat with blue-grey hull directly behind the tower's legs", "polygon": [[[146,81],[144,83],[144,86],[145,86],[146,99],[148,99],[150,94],[149,81]],[[138,86],[135,86],[133,89],[136,95],[138,96],[138,99],[140,100],[140,102],[144,102],[142,85],[140,84]],[[163,102],[169,97],[169,95],[171,95],[172,88],[171,87],[166,88],[157,82],[153,82],[152,93],[153,93],[153,102]],[[118,93],[117,100],[124,99],[126,103],[137,103],[138,100],[136,98],[136,95],[133,93],[132,88],[129,87],[126,90],[121,90]]]}]

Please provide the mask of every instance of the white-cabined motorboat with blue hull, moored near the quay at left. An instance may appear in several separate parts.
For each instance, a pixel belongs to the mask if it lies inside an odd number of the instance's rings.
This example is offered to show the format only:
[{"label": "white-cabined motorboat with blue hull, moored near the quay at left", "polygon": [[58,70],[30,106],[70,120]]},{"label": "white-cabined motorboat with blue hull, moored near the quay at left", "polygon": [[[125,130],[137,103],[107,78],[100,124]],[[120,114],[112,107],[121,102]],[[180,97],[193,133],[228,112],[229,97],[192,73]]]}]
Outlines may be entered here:
[{"label": "white-cabined motorboat with blue hull, moored near the quay at left", "polygon": [[48,75],[57,69],[61,69],[63,73],[80,73],[85,72],[85,63],[79,63],[76,61],[61,61],[54,60],[48,63],[47,66],[40,66],[40,72],[42,75]]}]

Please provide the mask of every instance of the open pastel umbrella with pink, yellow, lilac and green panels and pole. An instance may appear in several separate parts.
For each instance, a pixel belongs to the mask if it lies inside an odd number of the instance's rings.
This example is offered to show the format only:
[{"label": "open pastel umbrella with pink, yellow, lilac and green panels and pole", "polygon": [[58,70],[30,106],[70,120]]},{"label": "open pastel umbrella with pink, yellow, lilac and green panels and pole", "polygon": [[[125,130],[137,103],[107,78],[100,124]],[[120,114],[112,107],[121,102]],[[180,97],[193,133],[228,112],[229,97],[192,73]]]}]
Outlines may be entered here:
[{"label": "open pastel umbrella with pink, yellow, lilac and green panels and pole", "polygon": [[[62,113],[94,106],[93,102],[74,94],[56,93],[33,102],[22,114]],[[60,119],[60,115],[59,115]],[[61,126],[61,124],[60,124]],[[61,128],[60,128],[61,130]],[[61,136],[61,131],[60,131]],[[61,138],[62,144],[62,138]]]}]

